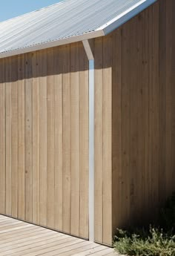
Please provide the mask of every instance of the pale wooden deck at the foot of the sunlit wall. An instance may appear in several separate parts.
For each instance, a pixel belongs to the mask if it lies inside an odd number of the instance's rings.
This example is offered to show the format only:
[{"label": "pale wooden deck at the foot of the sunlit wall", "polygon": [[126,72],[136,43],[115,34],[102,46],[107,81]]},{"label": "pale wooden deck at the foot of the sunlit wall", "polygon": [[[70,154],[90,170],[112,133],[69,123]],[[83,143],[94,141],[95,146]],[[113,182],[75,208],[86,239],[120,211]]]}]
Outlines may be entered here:
[{"label": "pale wooden deck at the foot of the sunlit wall", "polygon": [[113,249],[0,215],[0,255],[101,256]]}]

